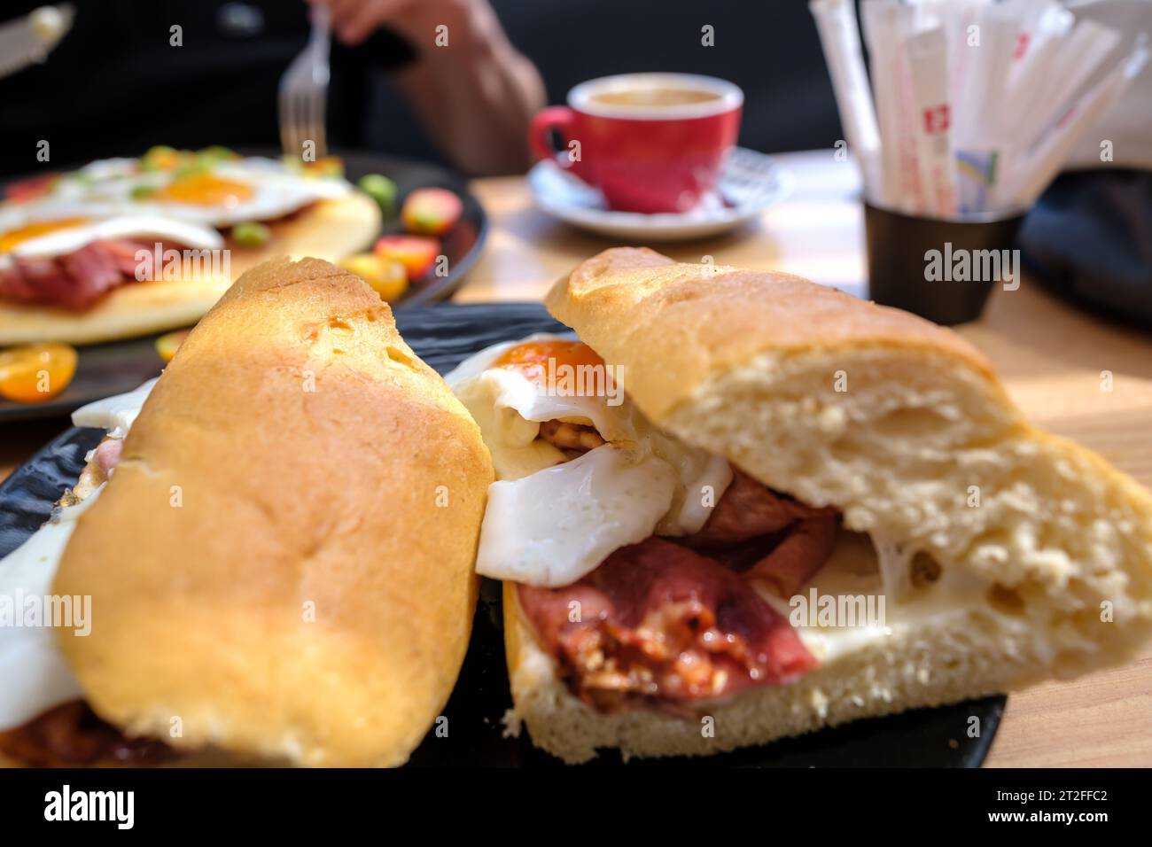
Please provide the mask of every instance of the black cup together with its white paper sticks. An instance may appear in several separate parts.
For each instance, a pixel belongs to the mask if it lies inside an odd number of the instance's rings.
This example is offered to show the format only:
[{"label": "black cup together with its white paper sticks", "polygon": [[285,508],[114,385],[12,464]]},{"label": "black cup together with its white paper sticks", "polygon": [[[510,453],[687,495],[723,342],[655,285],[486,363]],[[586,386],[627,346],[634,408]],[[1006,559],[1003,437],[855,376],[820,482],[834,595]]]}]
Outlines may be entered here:
[{"label": "black cup together with its white paper sticks", "polygon": [[[941,324],[1020,286],[1024,214],[1147,60],[1053,0],[811,0],[864,183],[873,300]],[[864,47],[867,48],[865,70]]]}]

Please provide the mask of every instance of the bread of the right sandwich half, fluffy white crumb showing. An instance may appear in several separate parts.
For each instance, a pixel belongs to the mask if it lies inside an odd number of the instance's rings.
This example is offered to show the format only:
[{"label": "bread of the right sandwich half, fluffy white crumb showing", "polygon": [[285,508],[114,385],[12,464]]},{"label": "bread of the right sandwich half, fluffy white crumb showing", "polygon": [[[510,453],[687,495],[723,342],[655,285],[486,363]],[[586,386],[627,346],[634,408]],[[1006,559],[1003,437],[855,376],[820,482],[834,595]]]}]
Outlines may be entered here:
[{"label": "bread of the right sandwich half, fluffy white crumb showing", "polygon": [[[1152,632],[1152,497],[1029,424],[948,330],[796,277],[647,249],[589,259],[546,302],[623,368],[658,426],[839,507],[847,530],[884,539],[905,568],[927,555],[964,589],[794,683],[703,704],[708,738],[694,720],[571,696],[509,588],[515,712],[538,746],[569,762],[601,747],[717,753],[1122,663]],[[908,602],[888,597],[889,620]]]}]

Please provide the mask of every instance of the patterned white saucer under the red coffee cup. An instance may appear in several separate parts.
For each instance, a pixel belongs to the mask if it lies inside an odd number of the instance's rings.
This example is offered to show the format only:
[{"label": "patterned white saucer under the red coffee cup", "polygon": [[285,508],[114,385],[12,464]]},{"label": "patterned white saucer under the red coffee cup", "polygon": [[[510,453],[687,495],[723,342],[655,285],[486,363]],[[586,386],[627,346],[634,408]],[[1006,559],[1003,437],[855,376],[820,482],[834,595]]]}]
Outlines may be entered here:
[{"label": "patterned white saucer under the red coffee cup", "polygon": [[735,229],[793,189],[791,173],[771,156],[736,148],[720,172],[717,190],[688,212],[614,212],[600,190],[551,161],[528,172],[528,186],[548,214],[581,229],[622,240],[687,241]]}]

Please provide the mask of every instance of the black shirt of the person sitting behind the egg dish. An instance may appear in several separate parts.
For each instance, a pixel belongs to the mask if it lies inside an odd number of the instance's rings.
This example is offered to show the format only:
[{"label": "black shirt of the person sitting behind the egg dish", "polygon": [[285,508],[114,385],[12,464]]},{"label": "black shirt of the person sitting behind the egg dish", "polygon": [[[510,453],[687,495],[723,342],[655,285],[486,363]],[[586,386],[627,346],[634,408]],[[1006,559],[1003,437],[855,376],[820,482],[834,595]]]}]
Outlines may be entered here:
[{"label": "black shirt of the person sitting behind the egg dish", "polygon": [[[153,144],[279,145],[276,86],[308,40],[303,0],[74,2],[71,30],[46,61],[0,80],[0,174],[136,156]],[[43,5],[7,2],[5,22]],[[370,74],[414,56],[386,30],[355,48],[333,41],[329,146],[364,146]],[[41,139],[48,165],[36,158]]]}]

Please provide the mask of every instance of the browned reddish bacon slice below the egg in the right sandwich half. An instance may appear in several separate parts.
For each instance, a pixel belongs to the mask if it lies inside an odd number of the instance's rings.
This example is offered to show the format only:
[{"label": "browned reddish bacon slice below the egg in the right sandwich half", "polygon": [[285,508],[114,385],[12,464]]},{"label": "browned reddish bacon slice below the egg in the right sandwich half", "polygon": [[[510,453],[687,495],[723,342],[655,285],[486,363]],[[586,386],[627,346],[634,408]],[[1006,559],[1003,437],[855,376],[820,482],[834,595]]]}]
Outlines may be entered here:
[{"label": "browned reddish bacon slice below the egg in the right sandwich half", "polygon": [[661,538],[615,551],[573,585],[517,589],[570,690],[604,711],[683,710],[816,665],[741,576]]}]

